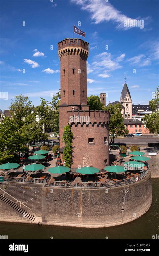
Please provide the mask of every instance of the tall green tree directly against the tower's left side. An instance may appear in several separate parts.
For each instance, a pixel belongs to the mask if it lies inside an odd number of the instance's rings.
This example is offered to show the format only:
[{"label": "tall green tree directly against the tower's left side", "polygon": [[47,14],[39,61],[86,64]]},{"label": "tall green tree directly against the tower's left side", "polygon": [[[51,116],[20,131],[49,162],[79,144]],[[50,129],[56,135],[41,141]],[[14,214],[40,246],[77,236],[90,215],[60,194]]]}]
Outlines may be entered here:
[{"label": "tall green tree directly against the tower's left side", "polygon": [[52,129],[53,129],[53,132],[55,133],[55,136],[59,134],[59,106],[61,103],[60,99],[61,99],[61,93],[59,89],[56,95],[53,95],[52,102],[50,102],[51,108],[53,111]]}]

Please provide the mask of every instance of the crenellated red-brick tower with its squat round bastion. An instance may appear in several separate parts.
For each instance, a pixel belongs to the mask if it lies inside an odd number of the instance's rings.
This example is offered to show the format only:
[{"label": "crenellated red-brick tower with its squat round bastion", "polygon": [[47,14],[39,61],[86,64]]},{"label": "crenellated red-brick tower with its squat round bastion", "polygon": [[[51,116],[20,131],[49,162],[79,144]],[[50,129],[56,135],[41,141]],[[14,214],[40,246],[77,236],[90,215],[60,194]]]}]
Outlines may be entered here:
[{"label": "crenellated red-brick tower with its squat round bastion", "polygon": [[81,39],[69,38],[58,43],[61,62],[60,149],[65,146],[62,142],[64,127],[70,124],[72,170],[79,165],[103,169],[109,164],[109,113],[89,110],[87,105],[88,45]]}]

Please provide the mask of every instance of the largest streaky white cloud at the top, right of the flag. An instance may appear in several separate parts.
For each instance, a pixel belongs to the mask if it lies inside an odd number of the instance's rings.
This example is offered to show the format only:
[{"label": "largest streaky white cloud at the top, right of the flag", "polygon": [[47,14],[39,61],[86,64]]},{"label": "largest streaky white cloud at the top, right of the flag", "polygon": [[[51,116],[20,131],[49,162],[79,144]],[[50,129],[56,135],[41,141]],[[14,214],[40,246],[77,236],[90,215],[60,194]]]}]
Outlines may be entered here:
[{"label": "largest streaky white cloud at the top, right of the flag", "polygon": [[[124,21],[128,19],[135,21],[137,19],[127,17],[121,11],[115,9],[112,4],[104,0],[71,0],[71,2],[81,5],[82,10],[87,10],[95,24],[112,21],[117,23],[117,29],[127,30],[132,27],[124,27]],[[148,16],[142,19],[147,24],[151,17]]]}]

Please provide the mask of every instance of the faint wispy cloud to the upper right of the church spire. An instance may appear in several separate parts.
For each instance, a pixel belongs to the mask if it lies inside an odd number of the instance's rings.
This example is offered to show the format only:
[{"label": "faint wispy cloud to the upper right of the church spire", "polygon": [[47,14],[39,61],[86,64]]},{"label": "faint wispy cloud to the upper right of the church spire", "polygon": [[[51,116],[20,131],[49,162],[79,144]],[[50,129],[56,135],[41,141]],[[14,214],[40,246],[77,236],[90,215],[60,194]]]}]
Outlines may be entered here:
[{"label": "faint wispy cloud to the upper right of the church spire", "polygon": [[151,64],[150,58],[146,58],[145,54],[139,54],[132,58],[127,59],[131,65],[138,65],[139,67],[145,67]]}]

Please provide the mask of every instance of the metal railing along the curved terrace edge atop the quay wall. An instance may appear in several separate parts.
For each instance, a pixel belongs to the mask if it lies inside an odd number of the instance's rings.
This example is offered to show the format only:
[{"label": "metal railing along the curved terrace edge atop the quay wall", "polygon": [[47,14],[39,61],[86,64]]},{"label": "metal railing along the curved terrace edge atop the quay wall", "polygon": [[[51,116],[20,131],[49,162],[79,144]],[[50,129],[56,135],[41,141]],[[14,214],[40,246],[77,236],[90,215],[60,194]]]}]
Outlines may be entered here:
[{"label": "metal railing along the curved terrace edge atop the quay wall", "polygon": [[131,178],[118,180],[118,181],[107,181],[107,182],[74,182],[74,181],[49,181],[40,178],[18,178],[18,177],[7,177],[4,176],[4,182],[18,182],[18,183],[34,183],[43,184],[47,187],[65,187],[65,188],[108,188],[127,185],[133,182],[137,182],[144,178],[149,170],[149,166],[146,171]]}]

